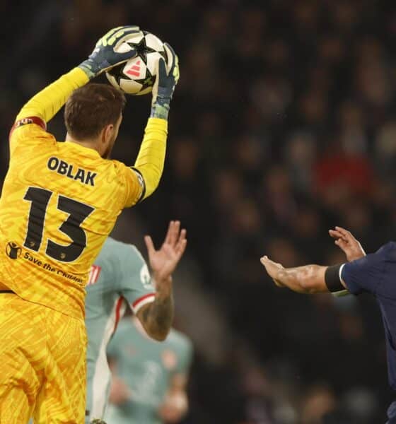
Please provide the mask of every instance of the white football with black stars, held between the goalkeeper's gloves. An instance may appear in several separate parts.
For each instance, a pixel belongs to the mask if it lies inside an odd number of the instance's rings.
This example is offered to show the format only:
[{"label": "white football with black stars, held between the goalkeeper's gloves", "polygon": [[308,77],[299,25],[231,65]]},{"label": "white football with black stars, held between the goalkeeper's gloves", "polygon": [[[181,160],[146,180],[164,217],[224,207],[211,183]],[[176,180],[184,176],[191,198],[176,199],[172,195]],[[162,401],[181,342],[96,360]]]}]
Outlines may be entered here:
[{"label": "white football with black stars, held between the goalkeeper's gloves", "polygon": [[113,87],[127,94],[150,93],[156,81],[158,60],[163,57],[168,64],[165,47],[156,35],[139,31],[124,40],[117,52],[128,52],[132,48],[136,49],[137,56],[107,71],[107,79]]}]

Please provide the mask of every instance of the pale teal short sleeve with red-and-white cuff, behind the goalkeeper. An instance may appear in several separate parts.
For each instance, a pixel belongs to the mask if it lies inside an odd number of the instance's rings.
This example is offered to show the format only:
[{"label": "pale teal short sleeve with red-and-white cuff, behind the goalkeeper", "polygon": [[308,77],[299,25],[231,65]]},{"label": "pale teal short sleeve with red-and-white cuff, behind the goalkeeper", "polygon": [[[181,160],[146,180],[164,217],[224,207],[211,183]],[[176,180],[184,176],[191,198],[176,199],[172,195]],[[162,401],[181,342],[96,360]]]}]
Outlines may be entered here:
[{"label": "pale teal short sleeve with red-and-white cuff, behind the goalkeeper", "polygon": [[151,282],[146,261],[136,247],[123,245],[119,259],[122,261],[120,291],[136,314],[142,306],[155,300],[156,290]]}]

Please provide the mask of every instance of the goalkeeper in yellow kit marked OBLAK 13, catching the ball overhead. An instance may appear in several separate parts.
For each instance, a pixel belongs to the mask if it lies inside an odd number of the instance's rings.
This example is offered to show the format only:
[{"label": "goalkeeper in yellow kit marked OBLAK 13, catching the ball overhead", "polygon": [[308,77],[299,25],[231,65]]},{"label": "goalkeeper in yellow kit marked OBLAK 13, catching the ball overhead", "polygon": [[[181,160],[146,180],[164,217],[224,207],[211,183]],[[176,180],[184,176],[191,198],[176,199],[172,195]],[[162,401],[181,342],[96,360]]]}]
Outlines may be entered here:
[{"label": "goalkeeper in yellow kit marked OBLAK 13, catching the ball overhead", "polygon": [[[134,166],[109,160],[125,98],[87,83],[136,55],[117,47],[137,31],[110,30],[86,61],[28,101],[11,129],[0,199],[0,423],[84,421],[88,272],[122,209],[158,186],[178,78],[167,45]],[[66,142],[57,143],[47,122],[65,103]]]}]

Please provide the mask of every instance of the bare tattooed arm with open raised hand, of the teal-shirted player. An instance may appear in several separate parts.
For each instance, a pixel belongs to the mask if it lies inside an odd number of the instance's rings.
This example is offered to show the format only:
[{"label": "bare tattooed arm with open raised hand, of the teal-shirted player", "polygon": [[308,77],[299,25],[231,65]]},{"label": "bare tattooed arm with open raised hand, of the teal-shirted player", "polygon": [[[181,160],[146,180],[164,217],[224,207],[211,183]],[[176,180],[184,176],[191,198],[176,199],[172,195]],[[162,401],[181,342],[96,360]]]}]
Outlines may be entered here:
[{"label": "bare tattooed arm with open raised hand, of the teal-shirted player", "polygon": [[171,221],[161,249],[155,249],[149,235],[144,241],[156,283],[156,299],[141,307],[137,317],[149,336],[163,341],[173,322],[172,273],[185,252],[186,230],[180,230],[179,221]]}]

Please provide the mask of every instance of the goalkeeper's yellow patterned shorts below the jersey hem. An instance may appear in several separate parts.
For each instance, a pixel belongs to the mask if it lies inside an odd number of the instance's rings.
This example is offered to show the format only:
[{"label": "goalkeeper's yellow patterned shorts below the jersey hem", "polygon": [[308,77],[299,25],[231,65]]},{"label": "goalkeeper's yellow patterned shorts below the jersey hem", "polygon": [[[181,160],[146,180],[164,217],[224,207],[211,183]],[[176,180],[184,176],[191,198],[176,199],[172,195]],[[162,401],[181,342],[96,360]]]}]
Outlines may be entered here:
[{"label": "goalkeeper's yellow patterned shorts below the jersey hem", "polygon": [[0,310],[0,423],[83,423],[84,322],[12,294]]}]

